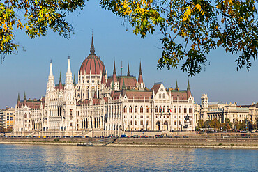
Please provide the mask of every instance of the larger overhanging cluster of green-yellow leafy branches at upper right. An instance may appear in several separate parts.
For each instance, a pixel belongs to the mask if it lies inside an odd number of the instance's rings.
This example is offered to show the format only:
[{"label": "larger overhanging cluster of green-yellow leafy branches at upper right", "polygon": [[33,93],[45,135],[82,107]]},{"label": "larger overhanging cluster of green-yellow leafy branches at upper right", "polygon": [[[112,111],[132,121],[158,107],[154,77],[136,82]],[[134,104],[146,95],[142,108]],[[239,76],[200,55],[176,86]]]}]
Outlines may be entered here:
[{"label": "larger overhanging cluster of green-yellow leafy branches at upper right", "polygon": [[257,0],[101,0],[100,6],[127,19],[142,38],[158,29],[162,55],[158,68],[178,68],[193,76],[206,54],[222,47],[237,54],[239,70],[257,59]]}]

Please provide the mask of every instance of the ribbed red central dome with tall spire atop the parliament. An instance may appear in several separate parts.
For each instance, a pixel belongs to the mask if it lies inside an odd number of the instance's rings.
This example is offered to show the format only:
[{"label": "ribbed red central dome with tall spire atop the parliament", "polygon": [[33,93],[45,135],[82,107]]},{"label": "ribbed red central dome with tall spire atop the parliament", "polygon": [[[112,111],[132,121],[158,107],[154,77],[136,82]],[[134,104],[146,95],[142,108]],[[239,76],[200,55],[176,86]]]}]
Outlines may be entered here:
[{"label": "ribbed red central dome with tall spire atop the parliament", "polygon": [[79,74],[89,75],[89,74],[98,74],[105,71],[105,65],[95,54],[95,48],[93,45],[93,37],[91,38],[91,54],[82,62],[81,68],[79,69]]}]

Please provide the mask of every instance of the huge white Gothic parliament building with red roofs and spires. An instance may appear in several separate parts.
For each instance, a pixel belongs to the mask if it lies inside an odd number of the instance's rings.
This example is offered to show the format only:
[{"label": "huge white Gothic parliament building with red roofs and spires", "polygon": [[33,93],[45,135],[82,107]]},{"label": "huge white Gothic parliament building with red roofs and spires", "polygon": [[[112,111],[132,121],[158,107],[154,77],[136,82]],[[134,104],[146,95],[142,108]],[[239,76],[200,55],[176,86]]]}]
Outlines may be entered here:
[{"label": "huge white Gothic parliament building with red roofs and spires", "polygon": [[[186,83],[186,82],[185,82]],[[146,88],[141,63],[139,76],[108,77],[103,61],[95,54],[93,38],[90,54],[82,62],[76,84],[70,69],[66,81],[55,84],[50,74],[45,97],[20,100],[15,105],[13,135],[16,136],[107,136],[133,131],[190,131],[195,129],[194,97],[186,90],[165,88],[155,83]]]}]

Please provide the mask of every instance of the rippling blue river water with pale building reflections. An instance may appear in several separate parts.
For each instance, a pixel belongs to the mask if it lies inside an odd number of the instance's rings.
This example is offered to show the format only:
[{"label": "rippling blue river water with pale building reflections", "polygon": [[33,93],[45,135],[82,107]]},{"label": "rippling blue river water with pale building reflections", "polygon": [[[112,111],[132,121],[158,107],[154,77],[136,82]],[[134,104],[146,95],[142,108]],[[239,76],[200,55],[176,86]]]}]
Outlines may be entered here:
[{"label": "rippling blue river water with pale building reflections", "polygon": [[257,171],[258,150],[0,144],[0,171]]}]

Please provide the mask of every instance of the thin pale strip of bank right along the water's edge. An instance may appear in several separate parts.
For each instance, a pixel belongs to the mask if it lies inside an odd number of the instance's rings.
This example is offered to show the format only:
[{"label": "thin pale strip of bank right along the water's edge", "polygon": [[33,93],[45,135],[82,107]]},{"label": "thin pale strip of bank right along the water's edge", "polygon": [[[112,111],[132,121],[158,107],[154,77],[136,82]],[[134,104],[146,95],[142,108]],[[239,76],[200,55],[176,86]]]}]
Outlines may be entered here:
[{"label": "thin pale strip of bank right along the water's edge", "polygon": [[[54,145],[54,146],[77,146],[77,143],[60,142],[30,142],[30,141],[0,141],[0,144],[23,144],[23,145]],[[103,144],[94,144],[93,146],[104,146]],[[110,143],[109,147],[158,147],[158,148],[226,148],[226,149],[258,149],[258,146],[227,146],[227,145],[195,145],[195,144],[134,144],[134,143]]]}]

